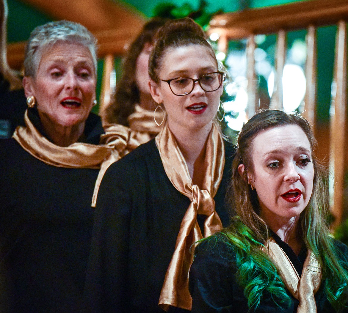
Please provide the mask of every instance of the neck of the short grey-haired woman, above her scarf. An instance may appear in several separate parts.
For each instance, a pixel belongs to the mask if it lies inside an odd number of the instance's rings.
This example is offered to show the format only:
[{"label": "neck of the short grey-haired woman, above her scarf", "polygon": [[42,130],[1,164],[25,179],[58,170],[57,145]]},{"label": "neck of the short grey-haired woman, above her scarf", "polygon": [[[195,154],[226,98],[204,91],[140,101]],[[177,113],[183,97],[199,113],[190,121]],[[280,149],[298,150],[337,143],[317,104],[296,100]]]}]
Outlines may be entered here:
[{"label": "neck of the short grey-haired woman, above her scarf", "polygon": [[85,121],[73,126],[62,126],[53,123],[39,111],[39,117],[45,133],[52,142],[60,147],[68,147],[76,143],[84,133]]}]

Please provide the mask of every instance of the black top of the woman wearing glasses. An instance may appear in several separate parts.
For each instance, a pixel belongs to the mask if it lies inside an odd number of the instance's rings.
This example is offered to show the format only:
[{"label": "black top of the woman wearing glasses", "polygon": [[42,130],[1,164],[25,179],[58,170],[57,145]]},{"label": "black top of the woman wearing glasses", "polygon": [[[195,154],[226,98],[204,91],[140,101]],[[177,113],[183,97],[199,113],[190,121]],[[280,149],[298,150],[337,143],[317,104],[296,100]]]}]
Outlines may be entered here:
[{"label": "black top of the woman wearing glasses", "polygon": [[[214,200],[228,225],[224,198],[235,148],[225,143],[225,151]],[[189,204],[168,179],[155,139],[109,167],[98,193],[82,312],[164,312],[160,291]],[[204,219],[198,216],[200,227]]]}]

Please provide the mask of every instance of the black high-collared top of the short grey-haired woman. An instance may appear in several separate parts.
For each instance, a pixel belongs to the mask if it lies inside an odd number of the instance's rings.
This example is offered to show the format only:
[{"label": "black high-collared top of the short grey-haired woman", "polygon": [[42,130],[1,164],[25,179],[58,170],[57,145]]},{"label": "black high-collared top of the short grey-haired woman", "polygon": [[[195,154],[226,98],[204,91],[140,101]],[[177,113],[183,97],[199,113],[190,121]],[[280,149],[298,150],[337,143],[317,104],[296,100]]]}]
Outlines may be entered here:
[{"label": "black high-collared top of the short grey-haired woman", "polygon": [[[35,109],[29,118],[40,130]],[[90,114],[85,142],[103,132]],[[98,170],[47,165],[11,138],[0,139],[0,173],[0,311],[78,312]]]}]

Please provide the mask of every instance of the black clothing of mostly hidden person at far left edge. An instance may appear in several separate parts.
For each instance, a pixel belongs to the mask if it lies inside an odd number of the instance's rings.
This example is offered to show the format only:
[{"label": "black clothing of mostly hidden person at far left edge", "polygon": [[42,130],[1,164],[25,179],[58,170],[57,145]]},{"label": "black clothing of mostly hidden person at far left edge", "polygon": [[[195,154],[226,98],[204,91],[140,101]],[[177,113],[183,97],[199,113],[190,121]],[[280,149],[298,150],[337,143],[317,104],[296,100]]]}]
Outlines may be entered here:
[{"label": "black clothing of mostly hidden person at far left edge", "polygon": [[10,138],[18,125],[24,126],[27,108],[24,90],[9,88],[9,82],[0,74],[0,138]]}]

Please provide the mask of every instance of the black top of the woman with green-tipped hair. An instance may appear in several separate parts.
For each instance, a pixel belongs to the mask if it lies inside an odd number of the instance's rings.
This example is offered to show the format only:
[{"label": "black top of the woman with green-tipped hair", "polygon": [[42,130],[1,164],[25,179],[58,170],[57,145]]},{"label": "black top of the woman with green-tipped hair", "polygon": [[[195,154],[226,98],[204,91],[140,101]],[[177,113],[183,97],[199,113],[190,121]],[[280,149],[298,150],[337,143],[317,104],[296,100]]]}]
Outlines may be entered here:
[{"label": "black top of the woman with green-tipped hair", "polygon": [[[189,289],[193,299],[192,313],[295,313],[299,302],[290,292],[288,295],[291,298],[291,305],[288,308],[280,308],[269,296],[264,295],[260,306],[255,311],[249,311],[247,299],[243,294],[244,289],[236,281],[234,253],[226,242],[221,240],[222,236],[216,234],[196,247],[189,275]],[[297,257],[279,236],[273,233],[272,237],[301,275],[306,249],[302,249]],[[347,262],[348,247],[339,241],[335,241],[335,246],[342,252],[339,255]],[[335,312],[324,295],[323,284],[316,293],[315,300],[318,313]],[[343,312],[347,313],[348,310]]]}]

